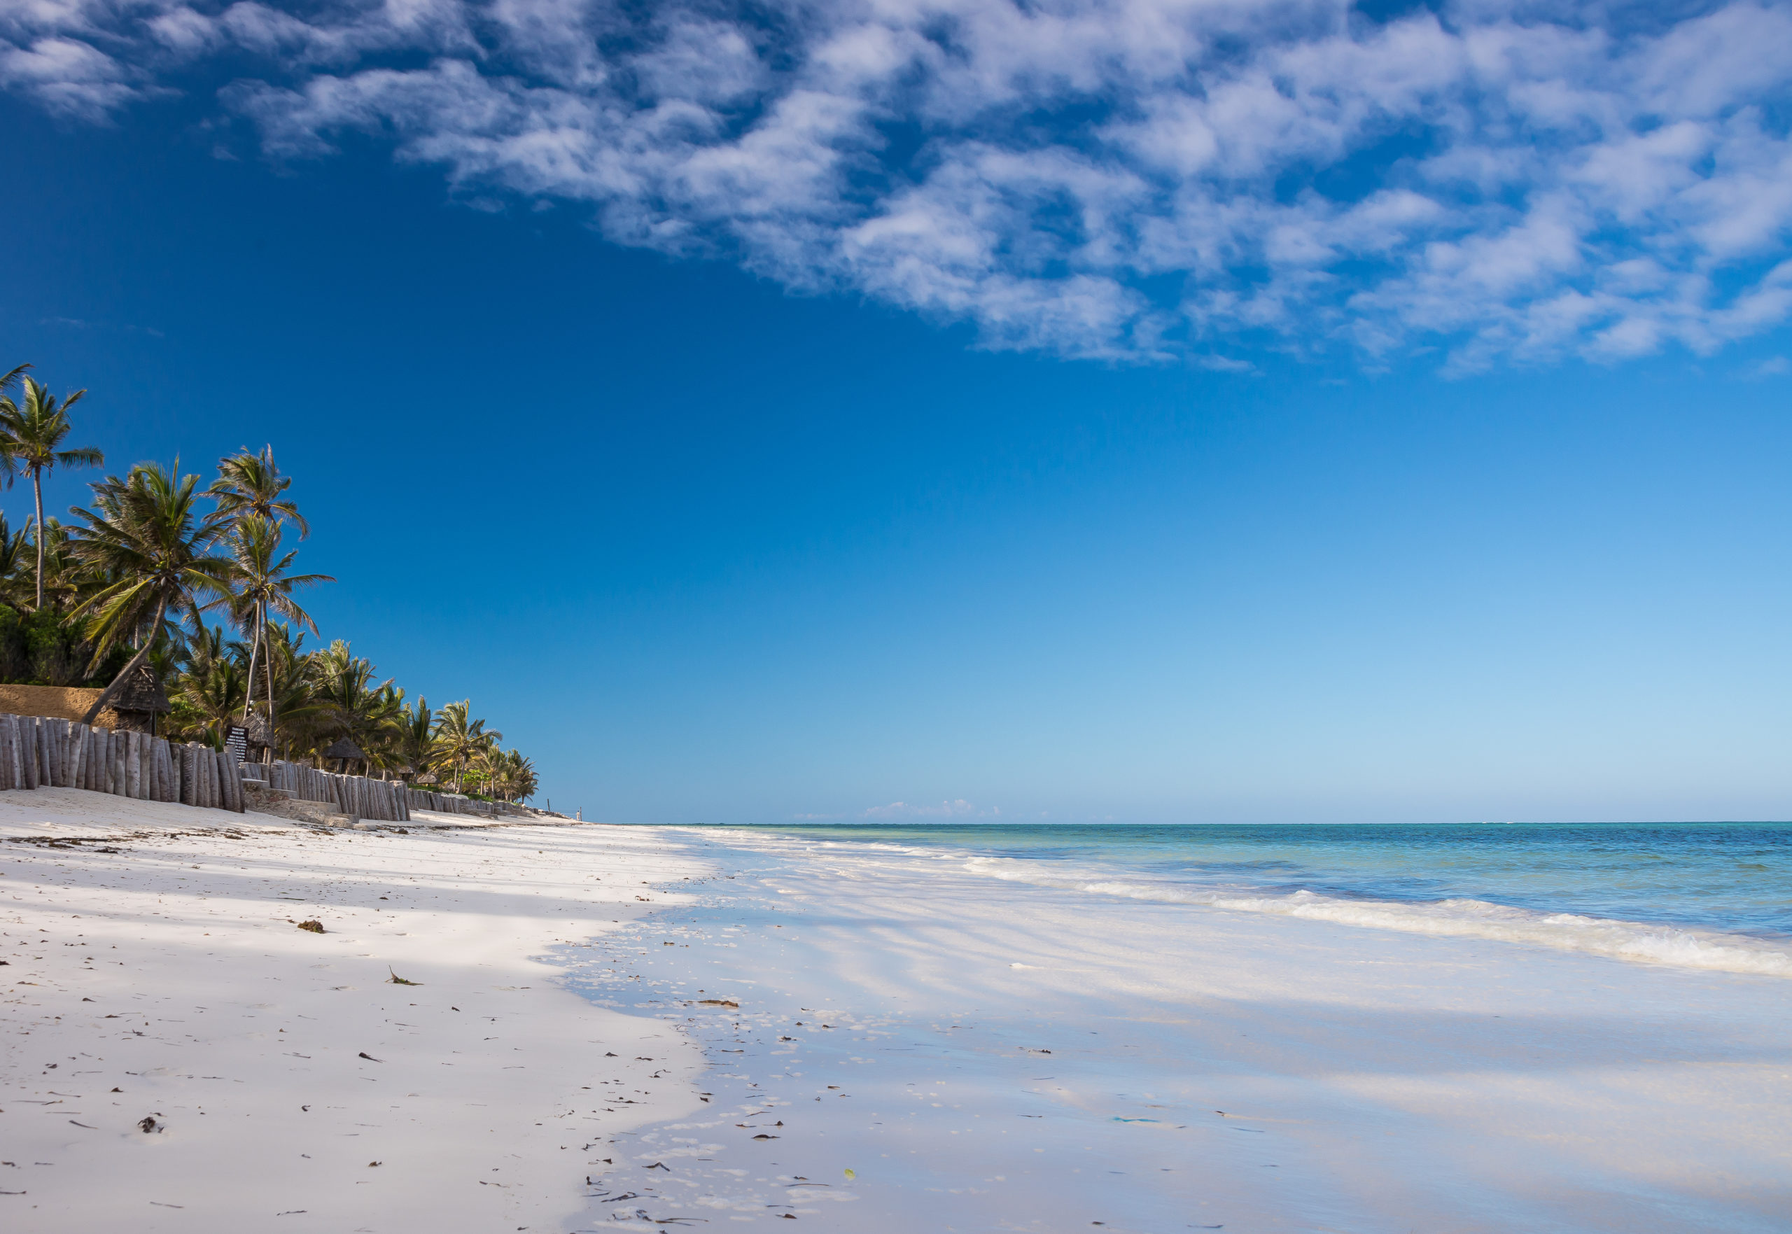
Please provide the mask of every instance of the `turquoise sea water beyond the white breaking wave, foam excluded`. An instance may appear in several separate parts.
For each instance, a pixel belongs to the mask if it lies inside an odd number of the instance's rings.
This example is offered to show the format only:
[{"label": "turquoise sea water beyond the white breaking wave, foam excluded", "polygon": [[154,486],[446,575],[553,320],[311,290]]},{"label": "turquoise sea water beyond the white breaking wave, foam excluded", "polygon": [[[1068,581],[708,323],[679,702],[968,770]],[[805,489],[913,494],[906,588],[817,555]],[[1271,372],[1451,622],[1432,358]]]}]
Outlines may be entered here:
[{"label": "turquoise sea water beyond the white breaking wave, foam excluded", "polygon": [[1131,896],[1478,901],[1792,938],[1792,824],[760,826],[831,844],[966,854],[1016,881]]}]

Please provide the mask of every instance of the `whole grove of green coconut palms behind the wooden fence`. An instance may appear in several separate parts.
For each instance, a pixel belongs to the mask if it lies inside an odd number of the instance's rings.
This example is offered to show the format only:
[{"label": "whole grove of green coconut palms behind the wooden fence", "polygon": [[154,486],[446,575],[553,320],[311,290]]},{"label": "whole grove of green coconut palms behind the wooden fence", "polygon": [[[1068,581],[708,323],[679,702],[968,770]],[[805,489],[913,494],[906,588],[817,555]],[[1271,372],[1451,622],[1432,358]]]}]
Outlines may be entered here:
[{"label": "whole grove of green coconut palms behind the wooden fence", "polygon": [[29,364],[0,374],[0,485],[29,482],[16,528],[0,512],[0,682],[99,688],[88,722],[145,670],[172,711],[163,736],[222,750],[233,729],[289,761],[324,767],[344,738],[369,774],[489,801],[527,801],[534,763],[470,700],[432,709],[355,656],[323,641],[301,596],[335,582],[296,566],[310,525],[272,446],[220,458],[206,482],[181,464],[138,462],[90,482],[68,521],[45,516],[52,471],[104,473],[77,444],[72,410]]}]

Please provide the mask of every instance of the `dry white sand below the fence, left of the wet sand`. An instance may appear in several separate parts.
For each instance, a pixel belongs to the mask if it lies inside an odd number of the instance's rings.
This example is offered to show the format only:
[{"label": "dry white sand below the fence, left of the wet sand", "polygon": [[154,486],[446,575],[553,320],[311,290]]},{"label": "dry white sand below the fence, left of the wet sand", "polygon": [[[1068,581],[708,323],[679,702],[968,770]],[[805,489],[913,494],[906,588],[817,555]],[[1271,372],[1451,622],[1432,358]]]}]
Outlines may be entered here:
[{"label": "dry white sand below the fence, left of the wet sand", "polygon": [[38,790],[0,836],[7,1229],[563,1230],[584,1146],[695,1105],[688,1042],[530,958],[702,874],[647,833]]}]

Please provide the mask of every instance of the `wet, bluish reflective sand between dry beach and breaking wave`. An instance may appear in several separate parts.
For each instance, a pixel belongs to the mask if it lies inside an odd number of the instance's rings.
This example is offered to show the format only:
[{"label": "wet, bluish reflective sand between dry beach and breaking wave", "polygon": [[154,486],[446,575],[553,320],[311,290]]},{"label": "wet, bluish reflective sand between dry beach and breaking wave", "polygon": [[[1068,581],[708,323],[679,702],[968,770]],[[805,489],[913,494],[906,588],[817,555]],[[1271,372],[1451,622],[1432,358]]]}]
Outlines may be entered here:
[{"label": "wet, bluish reflective sand between dry beach and breaking wave", "polygon": [[[1779,976],[1086,894],[901,844],[667,842],[735,879],[559,956],[710,1062],[713,1105],[624,1134],[597,1178],[659,1216],[1767,1234],[1792,1211]],[[694,1005],[715,994],[738,1008]]]}]

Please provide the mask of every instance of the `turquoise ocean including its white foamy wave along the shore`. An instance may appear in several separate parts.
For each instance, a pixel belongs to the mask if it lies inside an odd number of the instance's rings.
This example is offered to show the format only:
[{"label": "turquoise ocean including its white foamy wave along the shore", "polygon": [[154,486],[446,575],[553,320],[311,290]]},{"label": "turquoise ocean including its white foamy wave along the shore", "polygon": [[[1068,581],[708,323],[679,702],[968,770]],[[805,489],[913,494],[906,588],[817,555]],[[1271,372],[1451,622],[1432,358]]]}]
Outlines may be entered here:
[{"label": "turquoise ocean including its white foamy wave along the shore", "polygon": [[1783,822],[742,829],[1102,897],[1792,976]]}]

